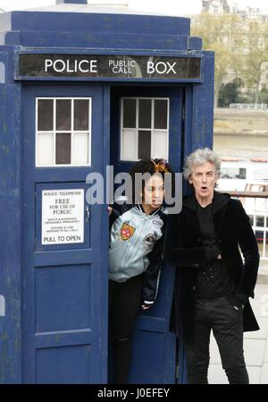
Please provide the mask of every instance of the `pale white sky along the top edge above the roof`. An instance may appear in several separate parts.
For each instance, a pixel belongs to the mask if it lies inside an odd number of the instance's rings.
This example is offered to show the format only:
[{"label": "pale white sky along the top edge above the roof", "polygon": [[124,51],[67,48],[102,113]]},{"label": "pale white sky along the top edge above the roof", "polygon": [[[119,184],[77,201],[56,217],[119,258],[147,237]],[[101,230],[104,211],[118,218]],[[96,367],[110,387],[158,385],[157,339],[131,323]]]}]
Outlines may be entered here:
[{"label": "pale white sky along the top edge above the roof", "polygon": [[[98,0],[94,0],[96,3]],[[109,3],[113,0],[99,0],[99,3]],[[239,4],[239,8],[245,6],[259,7],[261,10],[268,11],[267,0],[232,0]],[[120,2],[120,0],[118,0]],[[201,10],[201,0],[126,0],[132,10],[140,10],[153,13],[168,13],[175,15],[185,15],[199,13]],[[88,0],[88,4],[93,0]],[[37,8],[47,5],[54,5],[55,0],[0,0],[0,9],[4,11],[22,10],[27,8]]]}]

